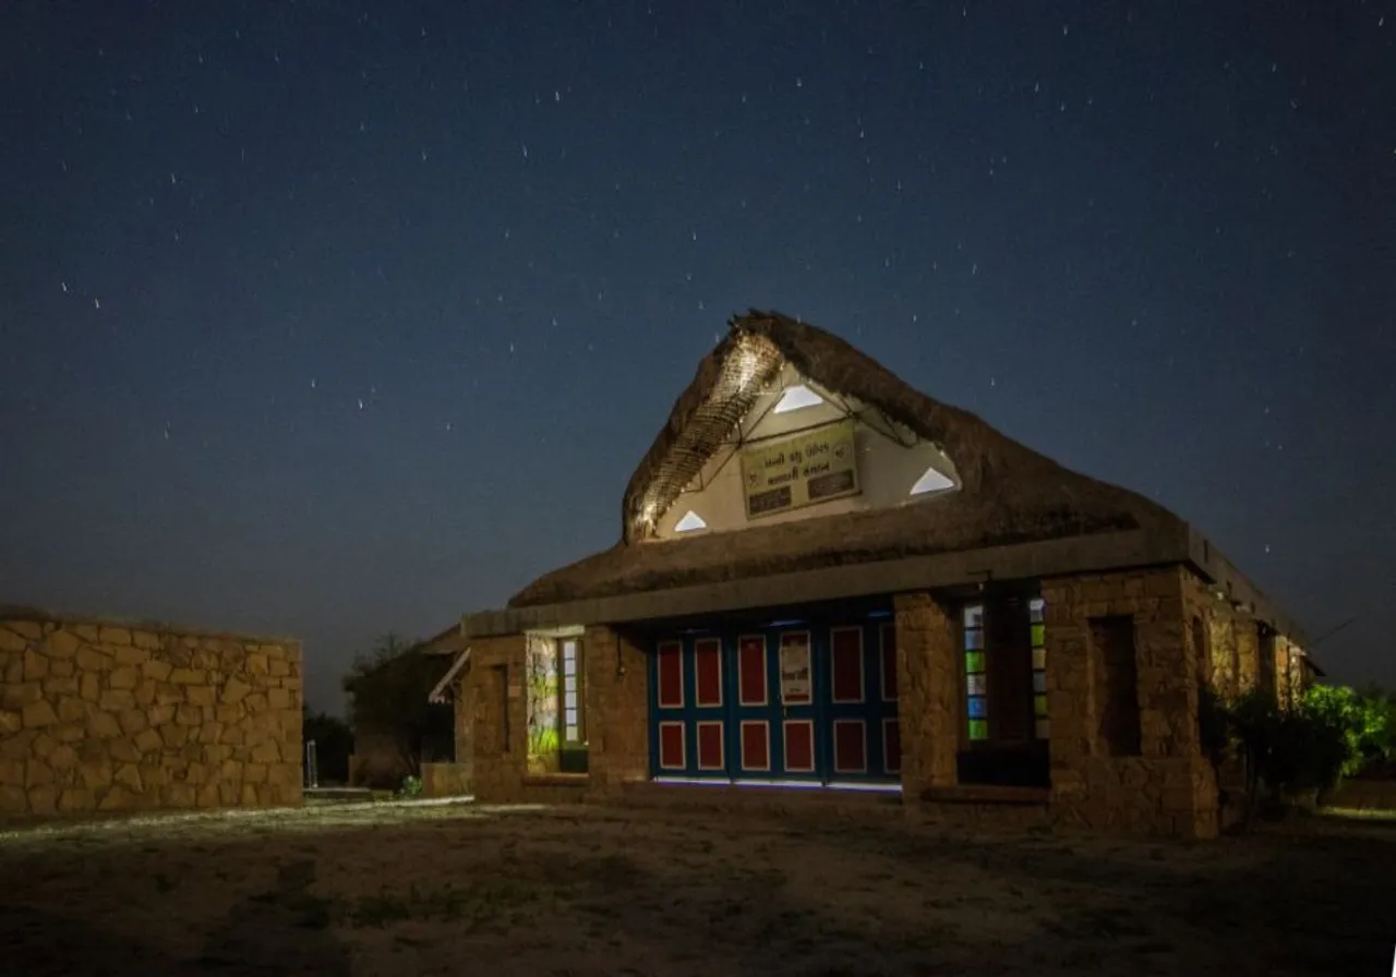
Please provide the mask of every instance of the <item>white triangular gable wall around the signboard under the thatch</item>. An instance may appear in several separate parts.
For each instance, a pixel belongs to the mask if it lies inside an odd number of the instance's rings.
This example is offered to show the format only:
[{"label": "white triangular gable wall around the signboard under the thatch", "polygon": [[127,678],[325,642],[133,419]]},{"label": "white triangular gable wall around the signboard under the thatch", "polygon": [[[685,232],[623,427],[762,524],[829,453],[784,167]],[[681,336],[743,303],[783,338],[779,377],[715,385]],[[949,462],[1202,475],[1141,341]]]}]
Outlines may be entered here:
[{"label": "white triangular gable wall around the signboard under the thatch", "polygon": [[[771,410],[779,402],[785,389],[796,384],[804,384],[825,398],[825,402],[786,413]],[[775,438],[804,431],[818,424],[842,420],[846,417],[845,406],[854,413],[863,410],[860,402],[836,398],[786,366],[779,385],[757,401],[751,413],[743,420],[741,430],[747,441]],[[934,505],[938,493],[924,495],[910,494],[912,486],[926,475],[927,468],[937,469],[956,488],[959,487],[955,466],[933,444],[921,441],[905,428],[896,430],[896,435],[902,442],[898,444],[896,440],[882,433],[893,430],[891,422],[881,415],[870,416],[870,420],[871,424],[866,424],[861,420],[854,424],[854,448],[859,455],[859,484],[861,487],[857,495],[835,498],[818,505],[807,505],[757,519],[747,519],[747,504],[741,486],[741,458],[734,451],[734,435],[733,444],[723,445],[716,455],[708,459],[699,476],[674,500],[674,504],[660,518],[658,537],[706,536],[708,533],[745,529],[748,526],[775,525],[796,519],[818,519],[828,515],[870,508],[889,508],[893,505]],[[903,447],[903,444],[912,444],[913,441],[913,447]],[[688,512],[694,512],[698,519],[706,523],[706,528],[695,532],[676,532],[676,526],[684,521]],[[692,523],[691,519],[690,523]]]}]

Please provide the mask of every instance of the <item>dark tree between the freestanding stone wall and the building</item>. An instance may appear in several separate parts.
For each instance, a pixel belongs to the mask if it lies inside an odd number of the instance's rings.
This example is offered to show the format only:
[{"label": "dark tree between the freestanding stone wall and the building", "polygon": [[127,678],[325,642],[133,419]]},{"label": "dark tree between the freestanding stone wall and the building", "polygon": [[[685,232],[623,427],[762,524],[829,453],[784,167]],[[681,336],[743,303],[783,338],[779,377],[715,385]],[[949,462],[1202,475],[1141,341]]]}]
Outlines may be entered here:
[{"label": "dark tree between the freestanding stone wall and the building", "polygon": [[450,663],[416,649],[417,642],[389,632],[355,657],[343,680],[356,737],[373,733],[387,738],[413,777],[422,776],[424,756],[450,756],[455,743],[451,706],[427,702]]}]

